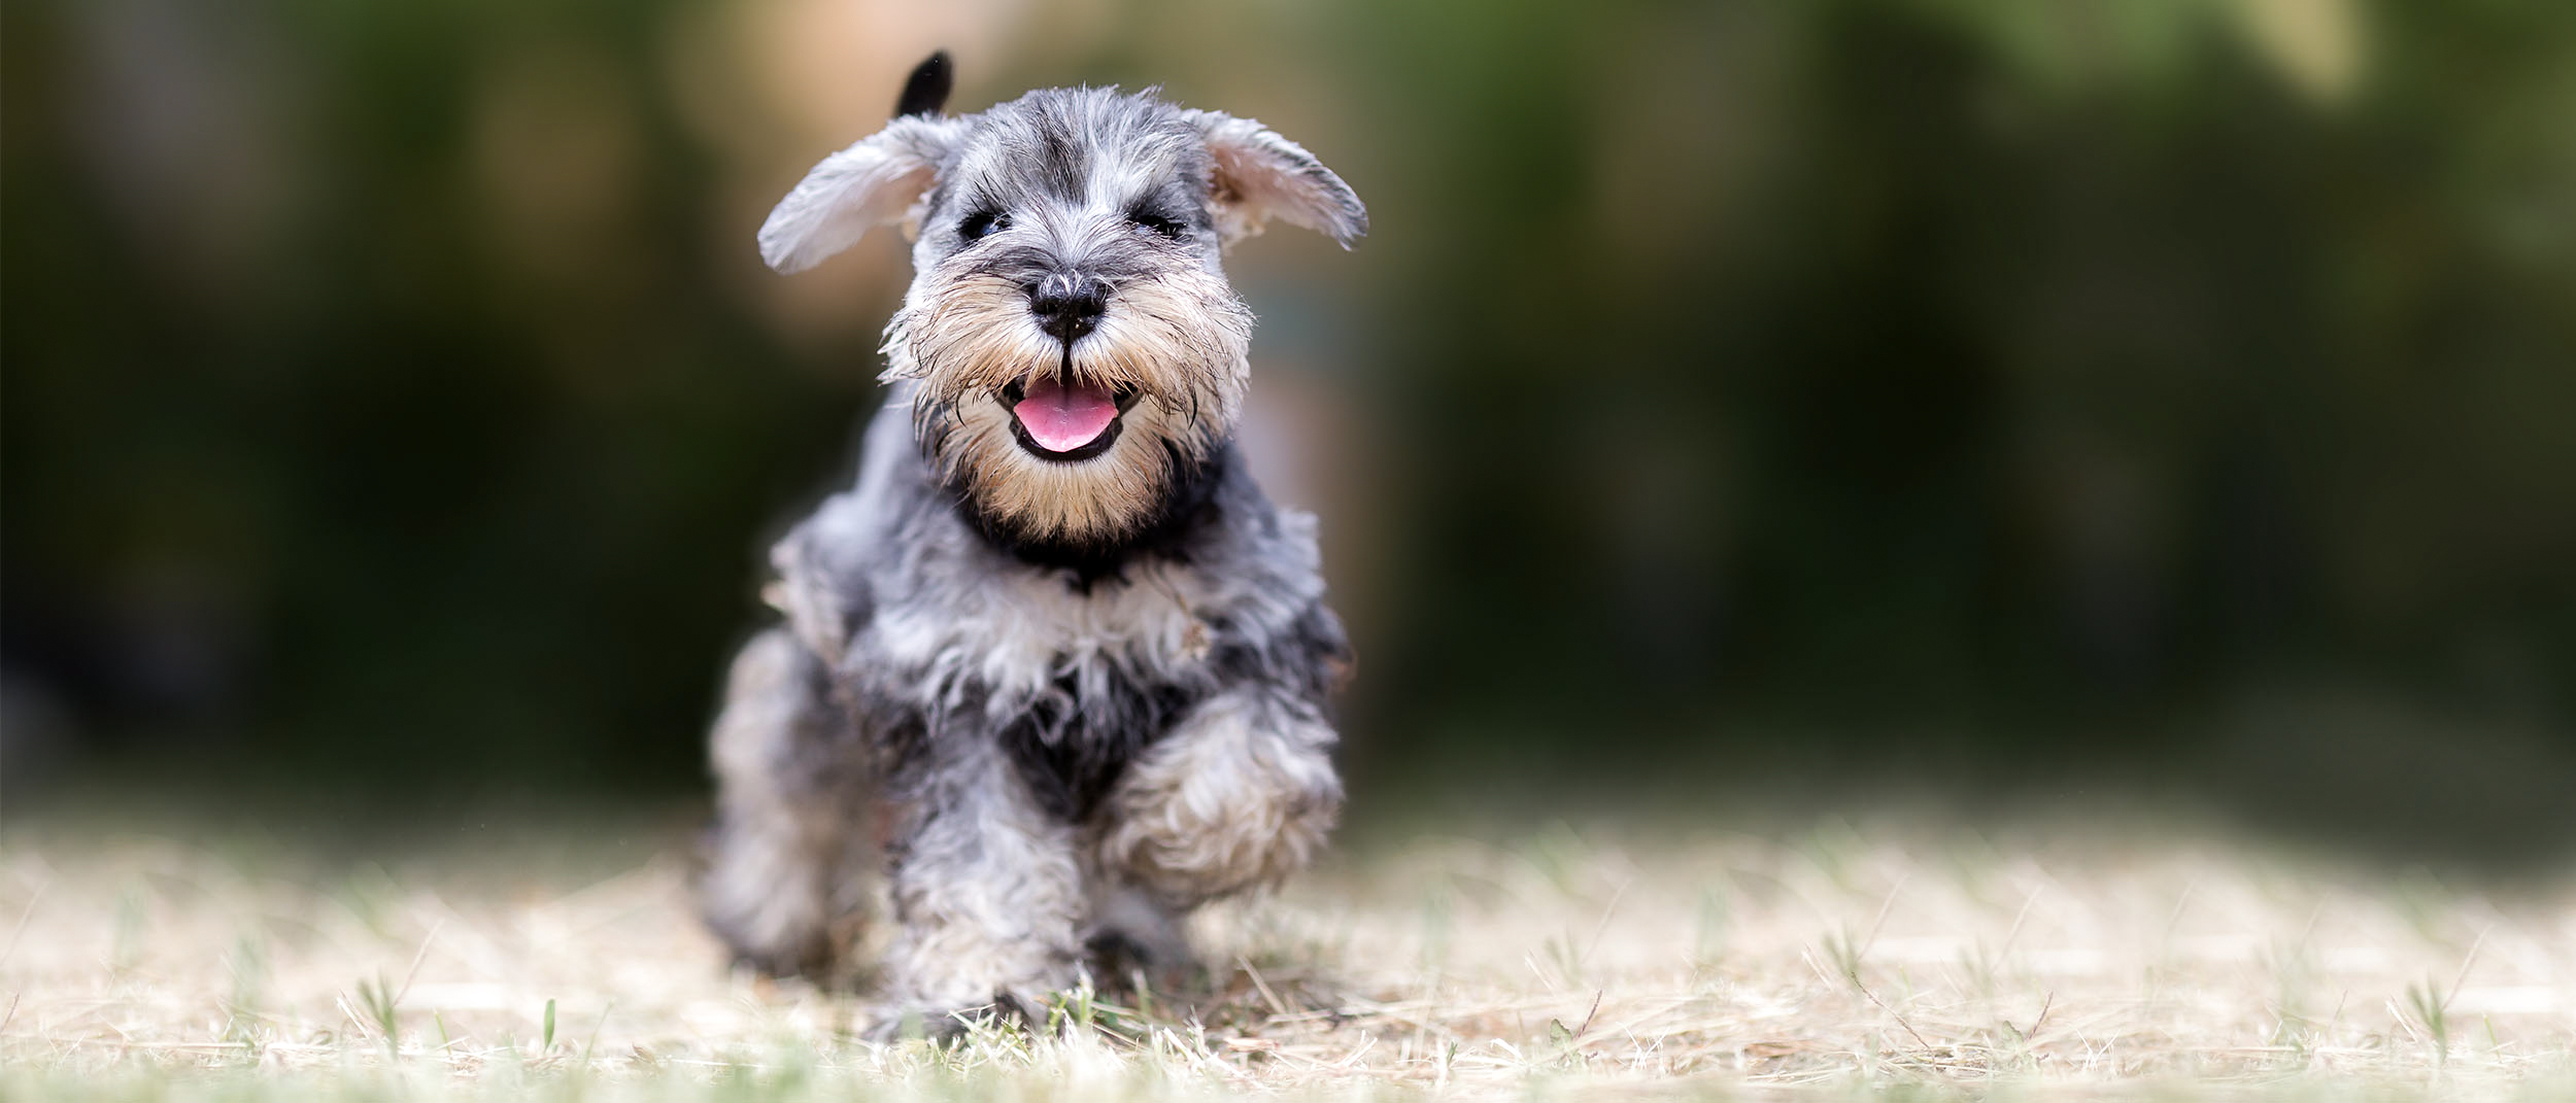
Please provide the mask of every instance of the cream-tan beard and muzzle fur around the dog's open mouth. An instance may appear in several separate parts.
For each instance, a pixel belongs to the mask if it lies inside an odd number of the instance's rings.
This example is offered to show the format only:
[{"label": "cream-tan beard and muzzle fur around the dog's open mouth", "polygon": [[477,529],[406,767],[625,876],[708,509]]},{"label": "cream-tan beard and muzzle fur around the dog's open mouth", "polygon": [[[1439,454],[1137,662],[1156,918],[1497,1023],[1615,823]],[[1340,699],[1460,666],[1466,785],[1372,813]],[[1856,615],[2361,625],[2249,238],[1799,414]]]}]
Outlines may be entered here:
[{"label": "cream-tan beard and muzzle fur around the dog's open mouth", "polygon": [[[886,381],[917,379],[912,417],[933,466],[992,526],[1030,541],[1108,544],[1159,513],[1242,410],[1252,314],[1224,278],[1172,268],[1123,283],[1066,348],[1018,281],[961,271],[917,289],[886,330]],[[1030,454],[1005,399],[1061,379],[1133,402],[1095,456]]]}]

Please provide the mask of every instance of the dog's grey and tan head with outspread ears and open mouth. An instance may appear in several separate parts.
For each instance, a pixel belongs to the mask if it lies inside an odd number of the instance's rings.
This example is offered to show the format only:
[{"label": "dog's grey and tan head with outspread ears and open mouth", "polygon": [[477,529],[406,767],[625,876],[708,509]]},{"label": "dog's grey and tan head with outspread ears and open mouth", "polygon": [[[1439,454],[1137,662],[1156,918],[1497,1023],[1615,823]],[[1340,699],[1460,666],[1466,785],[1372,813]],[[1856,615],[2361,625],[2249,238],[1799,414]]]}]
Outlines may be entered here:
[{"label": "dog's grey and tan head with outspread ears and open mouth", "polygon": [[1115,88],[1048,88],[943,116],[948,62],[912,75],[884,131],[824,157],[760,227],[801,271],[868,227],[914,237],[886,381],[984,523],[1108,544],[1157,515],[1185,464],[1234,433],[1252,312],[1218,255],[1273,216],[1342,245],[1360,196],[1249,119]]}]

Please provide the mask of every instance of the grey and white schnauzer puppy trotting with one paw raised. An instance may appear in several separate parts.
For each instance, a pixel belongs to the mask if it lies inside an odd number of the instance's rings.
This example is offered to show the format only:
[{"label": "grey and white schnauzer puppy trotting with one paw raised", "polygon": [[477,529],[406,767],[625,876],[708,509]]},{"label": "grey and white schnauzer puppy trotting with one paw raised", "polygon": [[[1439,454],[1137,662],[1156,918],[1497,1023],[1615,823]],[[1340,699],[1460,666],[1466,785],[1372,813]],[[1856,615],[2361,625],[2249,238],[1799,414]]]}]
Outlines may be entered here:
[{"label": "grey and white schnauzer puppy trotting with one paw raised", "polygon": [[935,54],[760,227],[791,273],[902,224],[914,278],[858,484],[770,554],[786,616],[732,667],[701,879],[742,961],[824,974],[881,874],[881,1026],[930,1031],[1188,961],[1182,915],[1321,848],[1347,644],[1314,518],[1234,448],[1252,314],[1218,255],[1273,216],[1368,227],[1249,119],[945,98]]}]

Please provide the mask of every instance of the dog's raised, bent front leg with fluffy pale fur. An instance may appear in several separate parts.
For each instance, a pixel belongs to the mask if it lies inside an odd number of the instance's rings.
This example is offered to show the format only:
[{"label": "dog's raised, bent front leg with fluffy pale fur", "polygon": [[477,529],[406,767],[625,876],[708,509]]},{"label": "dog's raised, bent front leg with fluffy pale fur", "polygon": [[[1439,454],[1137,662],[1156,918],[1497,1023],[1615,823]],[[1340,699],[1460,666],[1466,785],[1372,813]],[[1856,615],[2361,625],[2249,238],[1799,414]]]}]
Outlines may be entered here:
[{"label": "dog's raised, bent front leg with fluffy pale fur", "polygon": [[1200,701],[1118,778],[1100,863],[1170,910],[1278,884],[1342,809],[1332,745],[1321,709],[1280,688]]}]

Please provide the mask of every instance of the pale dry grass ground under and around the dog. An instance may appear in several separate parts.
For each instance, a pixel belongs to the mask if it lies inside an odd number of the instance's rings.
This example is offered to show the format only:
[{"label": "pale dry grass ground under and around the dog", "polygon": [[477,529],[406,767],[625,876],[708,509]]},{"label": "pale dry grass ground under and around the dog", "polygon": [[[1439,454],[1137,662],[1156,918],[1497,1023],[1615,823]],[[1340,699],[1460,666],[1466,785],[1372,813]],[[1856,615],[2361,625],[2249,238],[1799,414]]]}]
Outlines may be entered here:
[{"label": "pale dry grass ground under and around the dog", "polygon": [[1350,856],[1208,915],[1211,990],[938,1051],[726,977],[670,856],[464,840],[386,868],[21,827],[0,1098],[2576,1093],[2563,884],[1842,825],[1613,838]]}]

